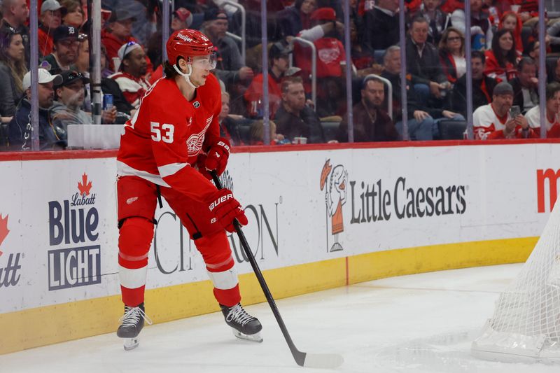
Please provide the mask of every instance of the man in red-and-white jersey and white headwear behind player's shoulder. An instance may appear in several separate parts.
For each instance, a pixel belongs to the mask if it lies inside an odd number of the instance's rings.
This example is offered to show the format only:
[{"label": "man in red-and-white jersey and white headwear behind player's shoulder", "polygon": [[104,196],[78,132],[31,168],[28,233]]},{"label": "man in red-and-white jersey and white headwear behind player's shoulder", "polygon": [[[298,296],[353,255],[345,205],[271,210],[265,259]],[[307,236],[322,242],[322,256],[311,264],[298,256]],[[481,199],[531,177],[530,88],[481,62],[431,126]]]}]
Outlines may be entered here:
[{"label": "man in red-and-white jersey and white headwear behind player's shoulder", "polygon": [[127,101],[134,108],[138,108],[142,97],[150,87],[150,83],[145,78],[148,65],[146,53],[139,43],[129,41],[120,47],[118,57],[122,61],[120,71],[109,78],[118,83]]}]

